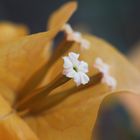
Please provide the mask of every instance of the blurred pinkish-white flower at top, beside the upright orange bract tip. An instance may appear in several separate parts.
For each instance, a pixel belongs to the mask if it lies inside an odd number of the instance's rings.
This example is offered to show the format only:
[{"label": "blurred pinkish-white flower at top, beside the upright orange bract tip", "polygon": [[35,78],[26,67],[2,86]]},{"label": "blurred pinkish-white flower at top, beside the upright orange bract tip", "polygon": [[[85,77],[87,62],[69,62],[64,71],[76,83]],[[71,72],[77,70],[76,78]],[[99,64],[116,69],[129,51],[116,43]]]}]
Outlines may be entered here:
[{"label": "blurred pinkish-white flower at top, beside the upright orange bract tip", "polygon": [[68,41],[75,41],[81,45],[84,49],[89,49],[90,43],[88,40],[84,39],[82,37],[82,34],[80,32],[75,32],[71,28],[69,24],[65,24],[62,28],[62,30],[67,34],[67,40]]}]

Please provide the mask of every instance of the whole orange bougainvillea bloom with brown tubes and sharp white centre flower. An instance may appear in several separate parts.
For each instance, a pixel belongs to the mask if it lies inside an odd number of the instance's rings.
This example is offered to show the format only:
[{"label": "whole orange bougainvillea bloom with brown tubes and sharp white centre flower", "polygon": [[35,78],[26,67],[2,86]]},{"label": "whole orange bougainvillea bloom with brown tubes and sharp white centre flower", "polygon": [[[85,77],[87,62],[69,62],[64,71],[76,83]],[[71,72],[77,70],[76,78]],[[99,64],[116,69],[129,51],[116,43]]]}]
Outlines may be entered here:
[{"label": "whole orange bougainvillea bloom with brown tubes and sharp white centre flower", "polygon": [[139,71],[102,39],[82,35],[92,47],[81,51],[81,43],[65,35],[52,49],[76,7],[69,2],[54,12],[47,32],[1,44],[1,140],[90,140],[99,105],[110,94],[102,84],[109,68],[93,68],[97,57],[110,64],[114,92],[140,91]]}]

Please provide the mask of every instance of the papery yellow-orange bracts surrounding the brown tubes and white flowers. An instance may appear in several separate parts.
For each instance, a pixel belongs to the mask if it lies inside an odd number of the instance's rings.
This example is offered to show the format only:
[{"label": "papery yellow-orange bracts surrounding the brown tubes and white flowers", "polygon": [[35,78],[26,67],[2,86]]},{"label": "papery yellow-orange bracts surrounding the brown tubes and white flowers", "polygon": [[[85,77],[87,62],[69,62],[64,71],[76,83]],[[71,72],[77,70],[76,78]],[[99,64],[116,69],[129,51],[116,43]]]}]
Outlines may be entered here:
[{"label": "papery yellow-orange bracts surrounding the brown tubes and white flowers", "polygon": [[[48,60],[51,54],[51,42],[75,9],[76,3],[69,2],[53,14],[49,22],[50,30],[48,32],[27,36],[1,45],[0,139],[90,140],[99,105],[103,97],[109,94],[108,87],[103,84],[72,94],[56,106],[36,116],[21,118],[14,112],[3,117],[11,112],[11,106],[18,90]],[[59,20],[61,22],[55,24]],[[139,92],[139,71],[102,39],[90,35],[85,35],[85,38],[90,41],[89,50],[80,51],[80,46],[76,43],[72,50],[78,51],[81,58],[89,64],[90,74],[96,73],[93,69],[95,58],[101,57],[111,66],[111,74],[118,81],[116,91],[125,89]],[[61,67],[62,60],[58,60],[49,74],[49,80],[61,72]],[[54,94],[62,89],[68,89],[70,86],[72,86],[71,83],[64,85],[63,88],[58,88]]]}]

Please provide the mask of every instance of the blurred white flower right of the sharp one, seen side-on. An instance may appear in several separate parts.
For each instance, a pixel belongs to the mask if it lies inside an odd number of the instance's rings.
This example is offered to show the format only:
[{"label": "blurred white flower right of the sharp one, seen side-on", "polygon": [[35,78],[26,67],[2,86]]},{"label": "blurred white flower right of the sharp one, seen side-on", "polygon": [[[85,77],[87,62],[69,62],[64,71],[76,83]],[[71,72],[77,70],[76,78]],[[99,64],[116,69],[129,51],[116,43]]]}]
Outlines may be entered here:
[{"label": "blurred white flower right of the sharp one, seen side-on", "polygon": [[105,64],[101,58],[96,58],[94,67],[103,73],[102,83],[107,84],[112,89],[116,88],[117,81],[110,75],[108,64]]}]

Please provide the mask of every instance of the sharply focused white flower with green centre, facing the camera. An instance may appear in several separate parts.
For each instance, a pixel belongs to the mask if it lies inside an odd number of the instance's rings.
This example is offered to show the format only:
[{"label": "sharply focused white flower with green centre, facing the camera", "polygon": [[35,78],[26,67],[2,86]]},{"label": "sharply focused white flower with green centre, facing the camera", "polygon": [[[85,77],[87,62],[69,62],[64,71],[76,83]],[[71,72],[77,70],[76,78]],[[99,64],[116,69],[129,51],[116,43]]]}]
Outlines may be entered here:
[{"label": "sharply focused white flower with green centre, facing the camera", "polygon": [[64,59],[64,71],[63,74],[66,77],[73,78],[76,85],[85,85],[89,82],[89,77],[86,74],[88,72],[88,64],[84,61],[79,61],[79,54],[70,52]]}]

